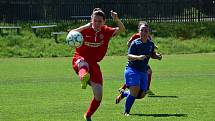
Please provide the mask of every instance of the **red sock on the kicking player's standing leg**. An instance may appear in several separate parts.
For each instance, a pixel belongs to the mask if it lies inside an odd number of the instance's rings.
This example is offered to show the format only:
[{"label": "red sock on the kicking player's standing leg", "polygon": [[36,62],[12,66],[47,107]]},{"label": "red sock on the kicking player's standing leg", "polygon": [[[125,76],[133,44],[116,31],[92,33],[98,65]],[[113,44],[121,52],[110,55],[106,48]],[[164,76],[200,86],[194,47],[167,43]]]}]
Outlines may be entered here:
[{"label": "red sock on the kicking player's standing leg", "polygon": [[93,115],[93,113],[97,110],[97,108],[99,107],[100,103],[101,103],[101,101],[97,101],[95,98],[93,98],[87,112],[85,113],[85,116],[91,117]]}]

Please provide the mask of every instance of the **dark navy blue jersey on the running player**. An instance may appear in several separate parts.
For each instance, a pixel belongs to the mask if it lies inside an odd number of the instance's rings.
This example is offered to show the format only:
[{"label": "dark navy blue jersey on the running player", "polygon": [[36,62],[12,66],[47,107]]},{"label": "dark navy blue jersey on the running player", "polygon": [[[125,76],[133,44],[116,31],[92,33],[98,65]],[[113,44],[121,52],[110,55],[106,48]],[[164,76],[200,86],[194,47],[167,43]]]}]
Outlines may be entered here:
[{"label": "dark navy blue jersey on the running player", "polygon": [[[143,43],[140,38],[134,40],[128,49],[128,54],[132,55],[151,55],[154,52],[155,45],[151,40]],[[144,60],[128,61],[127,67],[134,68],[138,71],[147,72],[149,57]]]}]

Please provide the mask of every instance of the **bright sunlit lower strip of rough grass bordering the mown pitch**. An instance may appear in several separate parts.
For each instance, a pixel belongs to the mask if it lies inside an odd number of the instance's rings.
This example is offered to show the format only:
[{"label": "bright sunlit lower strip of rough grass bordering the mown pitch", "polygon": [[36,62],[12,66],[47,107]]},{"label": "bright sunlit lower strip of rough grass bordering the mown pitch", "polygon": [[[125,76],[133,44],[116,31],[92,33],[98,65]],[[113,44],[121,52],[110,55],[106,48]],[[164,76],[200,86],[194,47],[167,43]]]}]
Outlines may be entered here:
[{"label": "bright sunlit lower strip of rough grass bordering the mown pitch", "polygon": [[[108,56],[126,55],[127,41],[134,33],[122,34],[110,40]],[[65,43],[66,34],[60,35],[56,43],[53,38],[41,38],[29,31],[22,35],[11,33],[0,36],[0,57],[70,57],[73,48]],[[209,53],[215,51],[215,39],[201,37],[183,39],[176,37],[153,37],[163,54]]]}]

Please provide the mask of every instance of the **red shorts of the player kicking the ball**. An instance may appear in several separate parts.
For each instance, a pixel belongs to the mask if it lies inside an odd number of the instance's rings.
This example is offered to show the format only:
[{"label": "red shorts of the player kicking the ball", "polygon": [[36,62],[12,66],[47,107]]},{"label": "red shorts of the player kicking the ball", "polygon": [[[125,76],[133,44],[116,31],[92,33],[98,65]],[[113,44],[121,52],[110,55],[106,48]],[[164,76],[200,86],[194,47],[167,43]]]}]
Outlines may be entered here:
[{"label": "red shorts of the player kicking the ball", "polygon": [[89,73],[90,73],[90,81],[97,83],[97,84],[103,84],[103,78],[102,78],[102,72],[100,70],[100,66],[96,62],[88,62],[81,56],[73,57],[72,59],[72,65],[73,69],[75,70],[76,74],[78,74],[78,60],[85,61],[89,65]]}]

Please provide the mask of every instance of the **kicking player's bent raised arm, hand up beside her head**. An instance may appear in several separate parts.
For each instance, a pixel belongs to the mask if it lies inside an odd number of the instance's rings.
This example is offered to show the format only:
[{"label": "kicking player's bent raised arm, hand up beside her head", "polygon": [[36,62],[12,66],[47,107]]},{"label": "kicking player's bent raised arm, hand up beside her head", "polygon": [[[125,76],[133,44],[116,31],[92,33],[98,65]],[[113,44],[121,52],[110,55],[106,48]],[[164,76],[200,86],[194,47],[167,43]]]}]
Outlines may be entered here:
[{"label": "kicking player's bent raised arm, hand up beside her head", "polygon": [[116,12],[114,12],[113,10],[111,10],[110,11],[111,12],[111,16],[112,16],[112,18],[113,18],[113,20],[116,22],[116,24],[117,24],[117,30],[116,30],[116,32],[114,33],[114,35],[117,35],[117,34],[119,34],[120,32],[125,32],[125,26],[124,26],[124,24],[122,23],[122,21],[119,19],[119,17],[118,17],[118,14],[116,13]]}]

